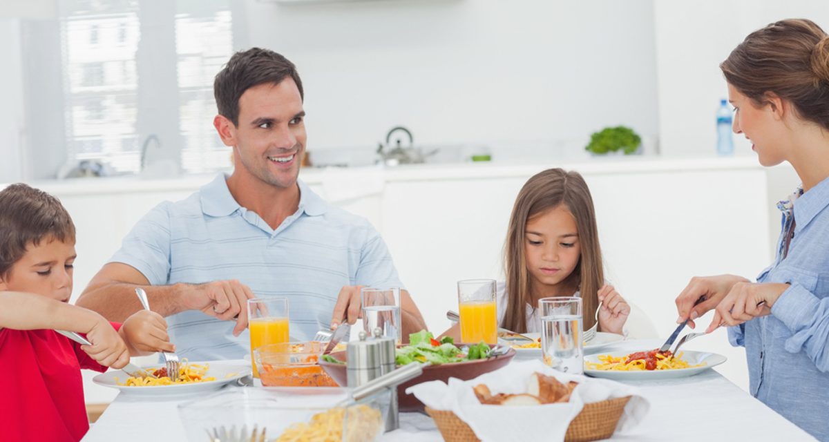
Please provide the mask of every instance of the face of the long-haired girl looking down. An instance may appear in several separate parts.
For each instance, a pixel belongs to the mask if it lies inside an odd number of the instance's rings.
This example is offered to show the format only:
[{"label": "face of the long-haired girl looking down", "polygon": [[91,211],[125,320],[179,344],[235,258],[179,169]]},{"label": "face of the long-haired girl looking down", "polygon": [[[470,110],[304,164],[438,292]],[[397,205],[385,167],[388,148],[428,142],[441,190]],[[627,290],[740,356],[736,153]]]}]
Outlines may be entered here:
[{"label": "face of the long-haired girl looking down", "polygon": [[555,206],[526,222],[524,245],[531,287],[536,294],[552,296],[579,264],[581,246],[575,218],[564,205]]}]

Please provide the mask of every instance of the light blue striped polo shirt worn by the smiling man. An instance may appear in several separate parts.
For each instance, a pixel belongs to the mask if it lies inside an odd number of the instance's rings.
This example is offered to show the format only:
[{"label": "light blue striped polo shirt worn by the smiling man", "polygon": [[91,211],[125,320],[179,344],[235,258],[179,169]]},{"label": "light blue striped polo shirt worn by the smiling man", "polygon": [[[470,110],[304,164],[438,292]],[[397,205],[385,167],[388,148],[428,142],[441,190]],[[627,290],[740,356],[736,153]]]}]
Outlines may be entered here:
[{"label": "light blue striped polo shirt worn by the smiling man", "polygon": [[[256,296],[284,296],[291,338],[310,340],[331,323],[342,286],[402,284],[371,223],[298,185],[298,210],[273,230],[235,201],[222,174],[187,199],[149,211],[109,262],[133,266],[153,285],[238,279]],[[250,352],[247,331],[234,337],[233,321],[187,311],[167,324],[177,354],[191,361]]]}]

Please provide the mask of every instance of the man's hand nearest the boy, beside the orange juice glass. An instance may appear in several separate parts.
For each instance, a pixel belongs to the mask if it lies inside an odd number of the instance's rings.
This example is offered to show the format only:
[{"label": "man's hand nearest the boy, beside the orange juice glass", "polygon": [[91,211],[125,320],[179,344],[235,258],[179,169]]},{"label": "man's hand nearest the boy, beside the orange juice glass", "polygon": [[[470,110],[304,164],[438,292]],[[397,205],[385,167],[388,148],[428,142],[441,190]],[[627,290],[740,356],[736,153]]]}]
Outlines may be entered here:
[{"label": "man's hand nearest the boy, beside the orange juice glass", "polygon": [[187,309],[200,310],[222,321],[235,320],[234,336],[245,331],[248,326],[248,299],[255,298],[247,285],[231,279],[187,285],[184,290],[182,299]]}]

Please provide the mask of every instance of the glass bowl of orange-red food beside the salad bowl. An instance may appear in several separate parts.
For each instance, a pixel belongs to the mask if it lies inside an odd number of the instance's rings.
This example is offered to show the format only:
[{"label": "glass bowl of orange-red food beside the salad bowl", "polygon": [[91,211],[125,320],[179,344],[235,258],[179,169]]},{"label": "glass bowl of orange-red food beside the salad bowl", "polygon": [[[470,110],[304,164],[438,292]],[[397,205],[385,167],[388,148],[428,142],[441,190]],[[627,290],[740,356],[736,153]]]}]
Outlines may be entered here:
[{"label": "glass bowl of orange-red food beside the salad bowl", "polygon": [[325,342],[286,342],[254,349],[263,386],[337,386],[319,365]]}]

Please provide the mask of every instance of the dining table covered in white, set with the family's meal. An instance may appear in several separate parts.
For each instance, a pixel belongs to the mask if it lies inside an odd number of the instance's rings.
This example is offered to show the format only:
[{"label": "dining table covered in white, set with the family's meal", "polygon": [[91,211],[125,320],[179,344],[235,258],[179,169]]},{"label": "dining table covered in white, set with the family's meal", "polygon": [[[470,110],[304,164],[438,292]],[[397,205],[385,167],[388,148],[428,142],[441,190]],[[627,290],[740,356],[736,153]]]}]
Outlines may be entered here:
[{"label": "dining table covered in white, set with the family's meal", "polygon": [[[629,349],[619,342],[603,352]],[[622,381],[637,386],[650,402],[638,425],[616,431],[608,440],[671,442],[681,440],[816,440],[726,379],[716,368],[675,379]],[[256,388],[228,385],[225,389]],[[120,393],[91,425],[85,442],[187,441],[177,406],[191,396],[146,397]],[[208,438],[205,435],[205,440]],[[444,440],[429,415],[400,413],[400,427],[382,441]]]}]

